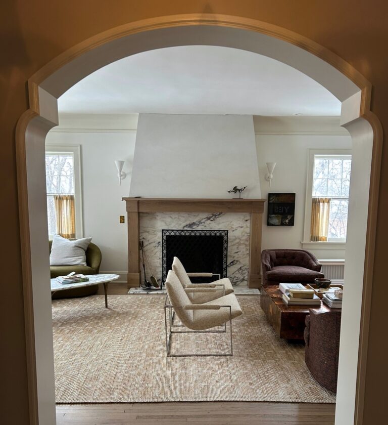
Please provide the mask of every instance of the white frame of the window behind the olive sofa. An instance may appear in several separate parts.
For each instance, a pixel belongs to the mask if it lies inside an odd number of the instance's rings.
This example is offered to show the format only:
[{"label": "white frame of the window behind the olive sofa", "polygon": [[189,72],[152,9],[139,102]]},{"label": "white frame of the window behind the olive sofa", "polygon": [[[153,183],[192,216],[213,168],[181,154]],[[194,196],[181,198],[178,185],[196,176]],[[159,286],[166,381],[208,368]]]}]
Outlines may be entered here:
[{"label": "white frame of the window behind the olive sofa", "polygon": [[[83,238],[83,214],[82,214],[82,184],[81,184],[81,147],[80,145],[46,145],[45,154],[73,155],[74,167],[74,207],[75,207],[75,237]],[[54,235],[49,235],[52,238]]]}]

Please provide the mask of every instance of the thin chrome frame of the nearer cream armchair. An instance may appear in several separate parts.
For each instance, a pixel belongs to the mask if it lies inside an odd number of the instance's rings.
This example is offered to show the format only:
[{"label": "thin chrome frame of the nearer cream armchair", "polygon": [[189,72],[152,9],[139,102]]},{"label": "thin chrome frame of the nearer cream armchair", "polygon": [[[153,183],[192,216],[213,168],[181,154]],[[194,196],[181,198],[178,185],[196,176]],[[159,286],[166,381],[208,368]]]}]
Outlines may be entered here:
[{"label": "thin chrome frame of the nearer cream armchair", "polygon": [[[207,329],[207,330],[173,330],[174,327],[185,327],[183,324],[174,324],[174,309],[183,309],[185,306],[173,306],[171,304],[168,304],[169,299],[168,296],[166,296],[166,300],[164,303],[164,325],[165,325],[165,336],[166,336],[166,354],[167,357],[225,357],[225,356],[233,356],[233,338],[232,338],[232,307],[231,306],[220,306],[220,308],[227,308],[229,309],[229,333],[230,333],[230,353],[221,353],[221,354],[213,354],[213,353],[206,353],[206,354],[171,354],[171,340],[172,335],[174,333],[226,333],[227,326],[226,322],[223,324],[223,326],[217,326],[221,327],[221,330],[215,330],[213,328]],[[201,310],[201,304],[196,304],[196,309]],[[169,309],[169,319],[167,320],[167,309]],[[205,307],[204,307],[205,310]],[[169,326],[167,326],[167,324]]]}]

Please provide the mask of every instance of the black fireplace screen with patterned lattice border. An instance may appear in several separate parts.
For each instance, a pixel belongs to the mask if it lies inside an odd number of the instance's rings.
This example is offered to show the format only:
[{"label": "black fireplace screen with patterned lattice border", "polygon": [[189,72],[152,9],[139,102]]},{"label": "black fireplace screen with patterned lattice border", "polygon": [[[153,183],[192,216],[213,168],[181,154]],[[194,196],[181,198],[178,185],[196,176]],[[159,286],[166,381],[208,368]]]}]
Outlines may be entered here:
[{"label": "black fireplace screen with patterned lattice border", "polygon": [[163,282],[174,257],[189,273],[209,272],[227,277],[228,231],[162,230]]}]

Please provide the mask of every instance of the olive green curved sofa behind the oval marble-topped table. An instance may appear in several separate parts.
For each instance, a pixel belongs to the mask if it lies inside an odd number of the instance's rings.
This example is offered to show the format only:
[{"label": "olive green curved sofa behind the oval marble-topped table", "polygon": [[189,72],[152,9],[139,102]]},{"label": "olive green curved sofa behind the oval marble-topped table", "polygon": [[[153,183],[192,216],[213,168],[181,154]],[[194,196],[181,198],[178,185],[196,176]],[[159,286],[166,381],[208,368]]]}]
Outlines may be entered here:
[{"label": "olive green curved sofa behind the oval marble-topped table", "polygon": [[[50,252],[53,240],[49,240]],[[101,265],[101,250],[94,243],[90,242],[86,249],[86,266],[50,266],[51,278],[65,276],[71,272],[88,274],[99,274]],[[77,289],[68,289],[65,291],[57,291],[53,295],[53,299],[68,298],[73,296],[92,295],[97,292],[99,285],[84,286]]]}]

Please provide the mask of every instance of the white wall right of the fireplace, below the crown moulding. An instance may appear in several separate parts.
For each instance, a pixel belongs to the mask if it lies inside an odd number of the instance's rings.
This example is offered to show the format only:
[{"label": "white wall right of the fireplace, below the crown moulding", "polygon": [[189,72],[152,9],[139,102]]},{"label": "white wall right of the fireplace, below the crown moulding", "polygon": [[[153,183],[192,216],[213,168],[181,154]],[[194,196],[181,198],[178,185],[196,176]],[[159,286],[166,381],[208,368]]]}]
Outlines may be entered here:
[{"label": "white wall right of the fireplace, below the crown moulding", "polygon": [[[262,197],[268,193],[295,192],[295,225],[293,227],[267,226],[267,202],[263,217],[262,248],[302,248],[307,165],[309,149],[351,149],[350,135],[334,134],[258,134],[257,155]],[[302,132],[301,132],[302,133]],[[264,176],[266,162],[276,162],[271,187]],[[344,259],[345,249],[310,249],[318,259]]]}]

